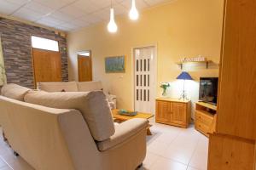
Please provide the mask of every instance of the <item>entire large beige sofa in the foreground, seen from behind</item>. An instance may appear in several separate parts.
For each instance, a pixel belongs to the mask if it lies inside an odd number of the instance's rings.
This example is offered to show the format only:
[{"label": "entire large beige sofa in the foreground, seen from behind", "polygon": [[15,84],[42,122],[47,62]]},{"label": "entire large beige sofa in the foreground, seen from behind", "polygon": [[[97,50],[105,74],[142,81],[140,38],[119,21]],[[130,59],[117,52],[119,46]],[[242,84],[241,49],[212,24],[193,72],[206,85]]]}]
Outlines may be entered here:
[{"label": "entire large beige sofa in the foreground, seen from behind", "polygon": [[2,89],[0,111],[9,144],[37,170],[134,170],[146,155],[148,121],[114,126],[102,91],[47,93],[11,84]]}]

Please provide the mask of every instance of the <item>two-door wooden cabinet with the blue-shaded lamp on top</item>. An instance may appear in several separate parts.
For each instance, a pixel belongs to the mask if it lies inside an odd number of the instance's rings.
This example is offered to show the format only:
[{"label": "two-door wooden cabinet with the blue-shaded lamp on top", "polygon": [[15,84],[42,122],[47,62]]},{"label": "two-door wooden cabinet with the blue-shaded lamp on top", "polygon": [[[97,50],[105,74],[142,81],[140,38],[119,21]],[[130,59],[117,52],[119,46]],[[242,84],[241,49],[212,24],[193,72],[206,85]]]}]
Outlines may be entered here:
[{"label": "two-door wooden cabinet with the blue-shaded lamp on top", "polygon": [[190,100],[157,98],[155,122],[186,128],[190,124]]}]

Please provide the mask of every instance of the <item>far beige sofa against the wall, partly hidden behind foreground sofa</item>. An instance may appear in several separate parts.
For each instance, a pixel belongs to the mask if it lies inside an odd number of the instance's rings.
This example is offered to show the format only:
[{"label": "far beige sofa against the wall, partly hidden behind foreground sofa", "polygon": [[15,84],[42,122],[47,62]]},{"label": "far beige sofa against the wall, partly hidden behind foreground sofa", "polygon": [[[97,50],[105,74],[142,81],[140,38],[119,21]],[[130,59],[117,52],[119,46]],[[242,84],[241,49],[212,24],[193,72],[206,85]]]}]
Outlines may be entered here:
[{"label": "far beige sofa against the wall, partly hidden behind foreground sofa", "polygon": [[[38,82],[38,89],[46,92],[90,92],[102,90],[101,81],[92,82]],[[116,109],[116,96],[106,93],[111,109]]]}]

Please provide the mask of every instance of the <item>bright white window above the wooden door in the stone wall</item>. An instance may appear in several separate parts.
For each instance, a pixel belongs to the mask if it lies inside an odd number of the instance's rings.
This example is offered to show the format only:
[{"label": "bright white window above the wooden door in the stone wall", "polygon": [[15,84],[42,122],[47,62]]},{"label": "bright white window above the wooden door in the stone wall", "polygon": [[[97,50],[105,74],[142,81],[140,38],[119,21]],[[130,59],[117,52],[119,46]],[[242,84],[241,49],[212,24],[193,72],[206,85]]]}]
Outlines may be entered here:
[{"label": "bright white window above the wooden door in the stone wall", "polygon": [[59,51],[59,43],[55,40],[34,36],[32,36],[31,39],[32,48],[46,49],[49,51]]}]

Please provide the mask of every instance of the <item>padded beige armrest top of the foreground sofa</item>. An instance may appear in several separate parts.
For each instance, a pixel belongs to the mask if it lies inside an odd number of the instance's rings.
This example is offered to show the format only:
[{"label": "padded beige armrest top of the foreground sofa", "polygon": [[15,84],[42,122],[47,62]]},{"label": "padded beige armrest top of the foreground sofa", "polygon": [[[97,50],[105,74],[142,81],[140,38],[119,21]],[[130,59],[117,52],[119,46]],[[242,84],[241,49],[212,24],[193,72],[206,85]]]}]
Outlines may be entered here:
[{"label": "padded beige armrest top of the foreground sofa", "polygon": [[119,125],[115,126],[115,133],[113,134],[113,136],[111,136],[107,140],[97,143],[98,149],[101,151],[111,149],[114,146],[125,142],[125,140],[130,139],[137,133],[140,133],[147,127],[147,119],[134,118],[126,122],[122,122]]}]

